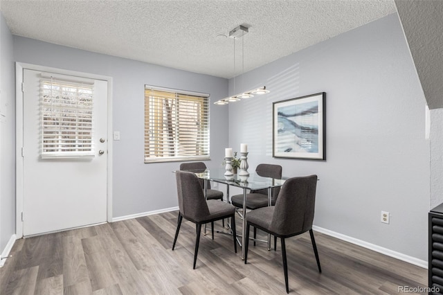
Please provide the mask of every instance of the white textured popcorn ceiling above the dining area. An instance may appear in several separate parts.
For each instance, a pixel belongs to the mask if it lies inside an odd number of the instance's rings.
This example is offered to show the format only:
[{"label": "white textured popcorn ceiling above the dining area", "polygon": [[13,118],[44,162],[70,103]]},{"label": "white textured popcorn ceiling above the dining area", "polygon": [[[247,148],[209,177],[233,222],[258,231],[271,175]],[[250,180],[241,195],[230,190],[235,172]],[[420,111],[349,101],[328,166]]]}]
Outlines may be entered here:
[{"label": "white textured popcorn ceiling above the dining area", "polygon": [[[397,11],[392,0],[1,0],[0,10],[14,35],[223,78]],[[217,35],[240,24],[249,33],[234,51]]]}]

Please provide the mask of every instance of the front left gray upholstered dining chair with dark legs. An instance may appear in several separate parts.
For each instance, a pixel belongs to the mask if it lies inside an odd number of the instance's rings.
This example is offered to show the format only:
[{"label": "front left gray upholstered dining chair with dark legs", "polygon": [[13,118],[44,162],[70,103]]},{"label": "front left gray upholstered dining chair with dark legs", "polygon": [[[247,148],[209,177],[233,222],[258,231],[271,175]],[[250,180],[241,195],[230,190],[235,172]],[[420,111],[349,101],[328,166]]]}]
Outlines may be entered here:
[{"label": "front left gray upholstered dining chair with dark legs", "polygon": [[175,176],[177,179],[177,195],[179,197],[179,220],[177,221],[177,230],[175,231],[172,251],[174,251],[183,218],[190,222],[194,222],[197,228],[197,240],[195,242],[194,265],[192,268],[195,269],[197,253],[199,252],[201,224],[209,222],[213,224],[216,220],[230,217],[233,231],[234,251],[237,253],[235,207],[226,202],[219,202],[214,199],[206,200],[203,195],[203,190],[201,190],[199,179],[194,173],[176,171]]}]

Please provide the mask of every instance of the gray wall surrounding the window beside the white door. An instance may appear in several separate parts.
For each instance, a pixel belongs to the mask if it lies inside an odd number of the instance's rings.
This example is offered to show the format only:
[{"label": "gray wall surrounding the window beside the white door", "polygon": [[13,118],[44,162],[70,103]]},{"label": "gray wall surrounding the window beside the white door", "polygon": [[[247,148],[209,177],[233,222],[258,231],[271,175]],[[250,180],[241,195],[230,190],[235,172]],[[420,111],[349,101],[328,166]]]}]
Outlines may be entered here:
[{"label": "gray wall surrounding the window beside the white door", "polygon": [[[72,71],[108,75],[113,78],[112,116],[120,141],[114,143],[113,216],[122,217],[178,206],[173,170],[178,162],[143,163],[144,85],[227,95],[228,81],[153,64],[39,42],[14,36],[17,62],[52,66]],[[228,141],[226,109],[210,104],[211,161],[218,166]],[[109,138],[111,139],[111,138]]]}]

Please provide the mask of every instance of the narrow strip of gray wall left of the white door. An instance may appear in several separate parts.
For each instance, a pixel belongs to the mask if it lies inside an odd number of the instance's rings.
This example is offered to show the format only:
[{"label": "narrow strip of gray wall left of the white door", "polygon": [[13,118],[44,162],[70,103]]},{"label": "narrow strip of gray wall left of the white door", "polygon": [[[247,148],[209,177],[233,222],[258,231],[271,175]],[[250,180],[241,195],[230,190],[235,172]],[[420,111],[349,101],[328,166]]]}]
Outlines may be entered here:
[{"label": "narrow strip of gray wall left of the white door", "polygon": [[12,35],[0,12],[0,253],[15,234],[15,69]]}]

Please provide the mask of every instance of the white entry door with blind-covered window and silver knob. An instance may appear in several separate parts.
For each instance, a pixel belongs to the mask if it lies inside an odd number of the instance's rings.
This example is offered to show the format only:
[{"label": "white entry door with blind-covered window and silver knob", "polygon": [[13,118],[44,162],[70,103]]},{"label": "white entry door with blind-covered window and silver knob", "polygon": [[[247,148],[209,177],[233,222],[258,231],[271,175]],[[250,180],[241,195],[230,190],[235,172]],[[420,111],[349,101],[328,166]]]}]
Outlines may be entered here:
[{"label": "white entry door with blind-covered window and silver knob", "polygon": [[25,69],[23,90],[23,234],[106,222],[107,82]]}]

